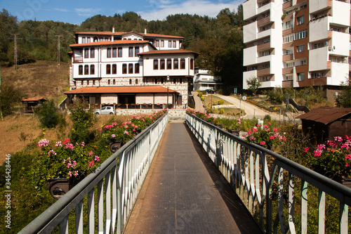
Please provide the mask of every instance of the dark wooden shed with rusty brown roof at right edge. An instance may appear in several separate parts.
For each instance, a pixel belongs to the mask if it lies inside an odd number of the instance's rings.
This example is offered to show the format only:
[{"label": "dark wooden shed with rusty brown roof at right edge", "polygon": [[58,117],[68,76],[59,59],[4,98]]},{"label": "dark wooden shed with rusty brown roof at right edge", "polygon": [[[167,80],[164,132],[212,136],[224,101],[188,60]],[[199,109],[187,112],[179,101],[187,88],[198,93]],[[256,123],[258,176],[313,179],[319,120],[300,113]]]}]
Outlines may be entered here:
[{"label": "dark wooden shed with rusty brown roof at right edge", "polygon": [[320,107],[297,118],[301,119],[303,132],[317,143],[351,135],[351,108]]}]

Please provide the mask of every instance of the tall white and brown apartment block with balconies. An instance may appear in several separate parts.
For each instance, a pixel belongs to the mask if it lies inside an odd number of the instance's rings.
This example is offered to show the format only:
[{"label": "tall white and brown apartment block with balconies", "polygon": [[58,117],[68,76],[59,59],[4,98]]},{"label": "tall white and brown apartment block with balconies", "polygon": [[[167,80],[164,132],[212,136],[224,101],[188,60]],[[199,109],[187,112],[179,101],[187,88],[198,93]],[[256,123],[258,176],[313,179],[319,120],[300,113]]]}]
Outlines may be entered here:
[{"label": "tall white and brown apartment block with balconies", "polygon": [[263,88],[324,86],[330,100],[349,77],[350,0],[244,2],[246,80]]}]

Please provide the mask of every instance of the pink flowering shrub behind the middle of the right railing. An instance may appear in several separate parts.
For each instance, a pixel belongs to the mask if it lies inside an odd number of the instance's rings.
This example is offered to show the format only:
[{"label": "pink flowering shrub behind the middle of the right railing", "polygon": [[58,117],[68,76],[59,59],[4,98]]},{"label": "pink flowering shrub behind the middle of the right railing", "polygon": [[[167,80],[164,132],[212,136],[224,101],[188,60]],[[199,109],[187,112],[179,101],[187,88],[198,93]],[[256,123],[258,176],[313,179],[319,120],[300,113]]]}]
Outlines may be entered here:
[{"label": "pink flowering shrub behind the middle of the right railing", "polygon": [[265,148],[271,148],[281,141],[286,141],[286,137],[278,134],[278,129],[273,129],[272,124],[268,122],[263,127],[257,124],[257,126],[250,129],[246,134],[246,141]]}]

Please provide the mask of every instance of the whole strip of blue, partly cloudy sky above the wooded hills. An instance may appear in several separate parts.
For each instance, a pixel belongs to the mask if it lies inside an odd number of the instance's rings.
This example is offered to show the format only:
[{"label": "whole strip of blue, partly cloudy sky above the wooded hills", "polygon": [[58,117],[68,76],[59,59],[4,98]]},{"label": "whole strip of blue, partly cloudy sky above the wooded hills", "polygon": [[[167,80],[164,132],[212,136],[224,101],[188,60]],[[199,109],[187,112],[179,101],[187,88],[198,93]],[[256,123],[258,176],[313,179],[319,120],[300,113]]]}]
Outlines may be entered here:
[{"label": "whole strip of blue, partly cloudy sky above the wooded hills", "polygon": [[216,17],[220,10],[230,11],[245,0],[0,0],[18,20],[53,20],[80,24],[93,15],[112,16],[126,11],[138,13],[144,20],[164,20],[167,15],[189,13]]}]

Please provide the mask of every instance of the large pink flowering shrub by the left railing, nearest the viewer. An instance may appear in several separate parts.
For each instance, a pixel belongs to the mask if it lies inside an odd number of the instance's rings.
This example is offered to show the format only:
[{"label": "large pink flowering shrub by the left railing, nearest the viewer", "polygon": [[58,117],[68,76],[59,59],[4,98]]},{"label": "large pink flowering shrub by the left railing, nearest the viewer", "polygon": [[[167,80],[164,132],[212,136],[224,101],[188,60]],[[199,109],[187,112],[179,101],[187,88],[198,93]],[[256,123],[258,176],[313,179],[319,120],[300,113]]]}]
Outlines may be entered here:
[{"label": "large pink flowering shrub by the left railing, nearest the viewer", "polygon": [[100,157],[88,150],[84,142],[73,144],[69,138],[51,144],[46,139],[38,143],[41,153],[34,157],[32,176],[39,194],[50,178],[82,176],[100,164]]}]

